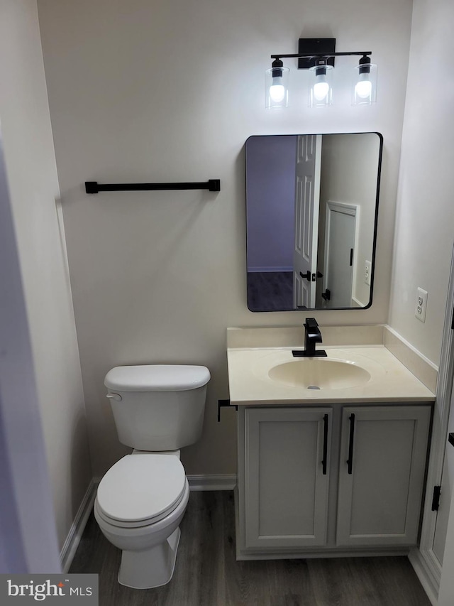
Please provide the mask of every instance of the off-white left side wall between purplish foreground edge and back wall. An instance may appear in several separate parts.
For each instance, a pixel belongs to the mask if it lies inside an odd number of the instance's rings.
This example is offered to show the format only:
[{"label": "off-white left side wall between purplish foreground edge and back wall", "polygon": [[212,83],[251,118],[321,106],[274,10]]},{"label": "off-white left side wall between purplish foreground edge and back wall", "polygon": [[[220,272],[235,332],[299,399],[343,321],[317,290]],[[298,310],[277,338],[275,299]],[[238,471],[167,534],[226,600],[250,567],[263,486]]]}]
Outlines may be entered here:
[{"label": "off-white left side wall between purplish foreground edge and back wall", "polygon": [[61,548],[92,477],[87,422],[36,1],[0,11],[1,129]]}]

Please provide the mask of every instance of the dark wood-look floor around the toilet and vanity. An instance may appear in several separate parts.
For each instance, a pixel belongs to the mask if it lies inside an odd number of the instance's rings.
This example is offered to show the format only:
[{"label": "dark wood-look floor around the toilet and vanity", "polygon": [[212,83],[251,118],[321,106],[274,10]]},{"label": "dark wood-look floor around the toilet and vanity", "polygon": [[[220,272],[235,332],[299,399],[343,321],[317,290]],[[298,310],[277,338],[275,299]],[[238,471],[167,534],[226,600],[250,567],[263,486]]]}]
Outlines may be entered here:
[{"label": "dark wood-look floor around the toilet and vanity", "polygon": [[118,585],[121,552],[94,516],[70,573],[99,574],[100,606],[430,606],[408,559],[237,562],[233,492],[192,492],[168,585]]}]

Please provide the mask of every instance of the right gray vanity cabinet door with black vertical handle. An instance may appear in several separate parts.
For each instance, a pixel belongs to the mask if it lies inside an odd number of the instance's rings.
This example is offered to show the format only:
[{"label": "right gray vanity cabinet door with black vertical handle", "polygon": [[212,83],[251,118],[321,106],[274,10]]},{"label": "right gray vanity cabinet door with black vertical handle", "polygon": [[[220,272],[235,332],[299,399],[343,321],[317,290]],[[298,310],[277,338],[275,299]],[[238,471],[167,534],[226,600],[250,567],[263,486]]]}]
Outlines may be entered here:
[{"label": "right gray vanity cabinet door with black vertical handle", "polygon": [[416,544],[431,406],[343,409],[338,546]]}]

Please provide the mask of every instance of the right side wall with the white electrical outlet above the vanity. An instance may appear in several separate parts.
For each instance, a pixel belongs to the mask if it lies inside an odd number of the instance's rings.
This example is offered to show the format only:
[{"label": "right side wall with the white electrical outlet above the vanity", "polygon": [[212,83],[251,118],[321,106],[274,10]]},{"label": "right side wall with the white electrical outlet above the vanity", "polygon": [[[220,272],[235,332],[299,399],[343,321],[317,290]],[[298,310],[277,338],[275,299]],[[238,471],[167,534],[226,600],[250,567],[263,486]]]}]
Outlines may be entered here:
[{"label": "right side wall with the white electrical outlet above the vanity", "polygon": [[[389,324],[438,364],[454,239],[452,0],[414,0]],[[414,317],[428,291],[426,323]]]}]

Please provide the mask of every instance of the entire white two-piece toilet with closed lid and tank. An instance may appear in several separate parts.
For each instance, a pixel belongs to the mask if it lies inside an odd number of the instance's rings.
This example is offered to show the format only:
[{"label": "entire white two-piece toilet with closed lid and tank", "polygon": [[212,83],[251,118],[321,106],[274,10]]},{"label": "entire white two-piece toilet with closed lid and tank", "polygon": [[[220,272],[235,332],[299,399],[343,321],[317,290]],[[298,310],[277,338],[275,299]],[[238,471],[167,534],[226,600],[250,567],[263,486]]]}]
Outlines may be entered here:
[{"label": "entire white two-piece toilet with closed lid and tank", "polygon": [[204,366],[176,364],[121,366],[106,374],[118,439],[133,452],[102,477],[94,516],[122,550],[121,585],[149,589],[172,578],[189,499],[179,449],[200,438],[209,379]]}]

